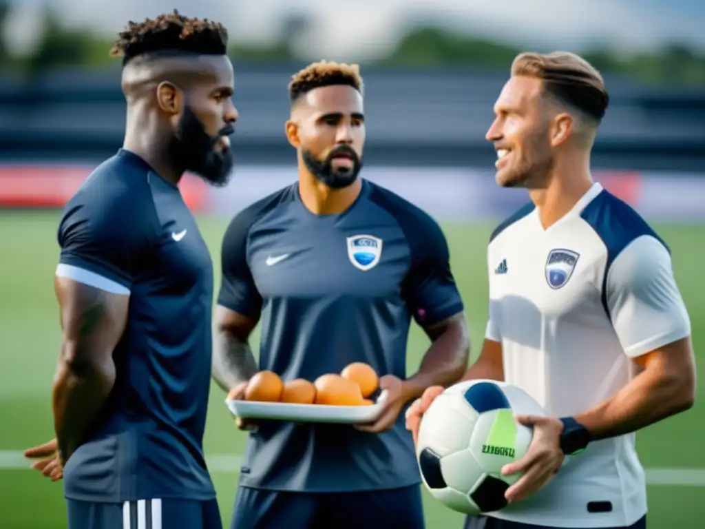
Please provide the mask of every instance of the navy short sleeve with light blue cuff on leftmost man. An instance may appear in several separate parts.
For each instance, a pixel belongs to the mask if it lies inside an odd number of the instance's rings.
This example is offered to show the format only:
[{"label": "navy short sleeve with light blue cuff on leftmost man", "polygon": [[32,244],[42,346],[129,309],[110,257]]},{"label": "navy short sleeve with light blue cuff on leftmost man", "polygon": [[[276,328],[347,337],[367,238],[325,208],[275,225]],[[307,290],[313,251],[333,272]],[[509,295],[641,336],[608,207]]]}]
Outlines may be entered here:
[{"label": "navy short sleeve with light blue cuff on leftmost man", "polygon": [[128,215],[127,202],[94,193],[69,202],[59,224],[57,275],[113,293],[130,293],[134,263],[146,236],[139,214]]}]

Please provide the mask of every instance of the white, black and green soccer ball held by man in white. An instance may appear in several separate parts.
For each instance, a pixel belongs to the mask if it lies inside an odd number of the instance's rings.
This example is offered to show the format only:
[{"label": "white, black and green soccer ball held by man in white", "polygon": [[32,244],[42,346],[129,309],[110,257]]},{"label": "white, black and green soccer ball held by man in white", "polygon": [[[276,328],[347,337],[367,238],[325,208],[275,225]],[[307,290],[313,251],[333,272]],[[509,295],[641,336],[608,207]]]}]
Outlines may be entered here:
[{"label": "white, black and green soccer ball held by man in white", "polygon": [[443,391],[421,420],[416,455],[424,485],[453,511],[479,514],[507,506],[504,493],[521,475],[501,475],[522,458],[532,430],[514,415],[545,415],[525,391],[505,382],[470,380]]}]

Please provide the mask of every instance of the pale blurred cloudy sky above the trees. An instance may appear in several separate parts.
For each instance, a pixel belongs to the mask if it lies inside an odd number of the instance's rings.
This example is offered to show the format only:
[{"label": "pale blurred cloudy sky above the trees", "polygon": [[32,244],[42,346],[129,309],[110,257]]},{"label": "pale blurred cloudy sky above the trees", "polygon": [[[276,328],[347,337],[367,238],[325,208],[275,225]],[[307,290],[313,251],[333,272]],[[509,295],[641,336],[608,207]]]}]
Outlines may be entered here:
[{"label": "pale blurred cloudy sky above the trees", "polygon": [[221,21],[231,40],[268,42],[284,18],[312,18],[297,43],[305,57],[364,60],[391,51],[419,22],[469,32],[529,49],[580,51],[595,43],[618,49],[655,49],[678,40],[705,50],[702,0],[9,0],[4,33],[12,49],[30,47],[41,28],[38,8],[52,5],[68,25],[115,34],[127,20],[173,8]]}]

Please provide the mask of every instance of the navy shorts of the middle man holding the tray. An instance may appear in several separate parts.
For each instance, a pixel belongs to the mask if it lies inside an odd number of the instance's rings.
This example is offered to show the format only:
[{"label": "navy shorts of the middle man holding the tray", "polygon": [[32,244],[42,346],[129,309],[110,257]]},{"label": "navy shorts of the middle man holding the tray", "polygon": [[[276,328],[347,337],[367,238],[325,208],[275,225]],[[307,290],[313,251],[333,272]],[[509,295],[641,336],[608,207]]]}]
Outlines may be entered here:
[{"label": "navy shorts of the middle man holding the tray", "polygon": [[419,485],[365,492],[239,487],[231,529],[424,529]]}]

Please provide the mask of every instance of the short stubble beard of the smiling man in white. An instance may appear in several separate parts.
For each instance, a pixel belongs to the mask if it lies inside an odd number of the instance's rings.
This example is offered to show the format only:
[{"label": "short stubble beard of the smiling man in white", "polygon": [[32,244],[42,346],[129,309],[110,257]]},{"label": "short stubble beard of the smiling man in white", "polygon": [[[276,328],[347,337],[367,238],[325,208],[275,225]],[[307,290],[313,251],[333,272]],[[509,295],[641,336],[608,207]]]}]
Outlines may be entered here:
[{"label": "short stubble beard of the smiling man in white", "polygon": [[498,169],[496,182],[503,188],[543,188],[553,168],[553,154],[547,145],[548,130],[527,139],[520,150],[510,150],[509,165]]}]

